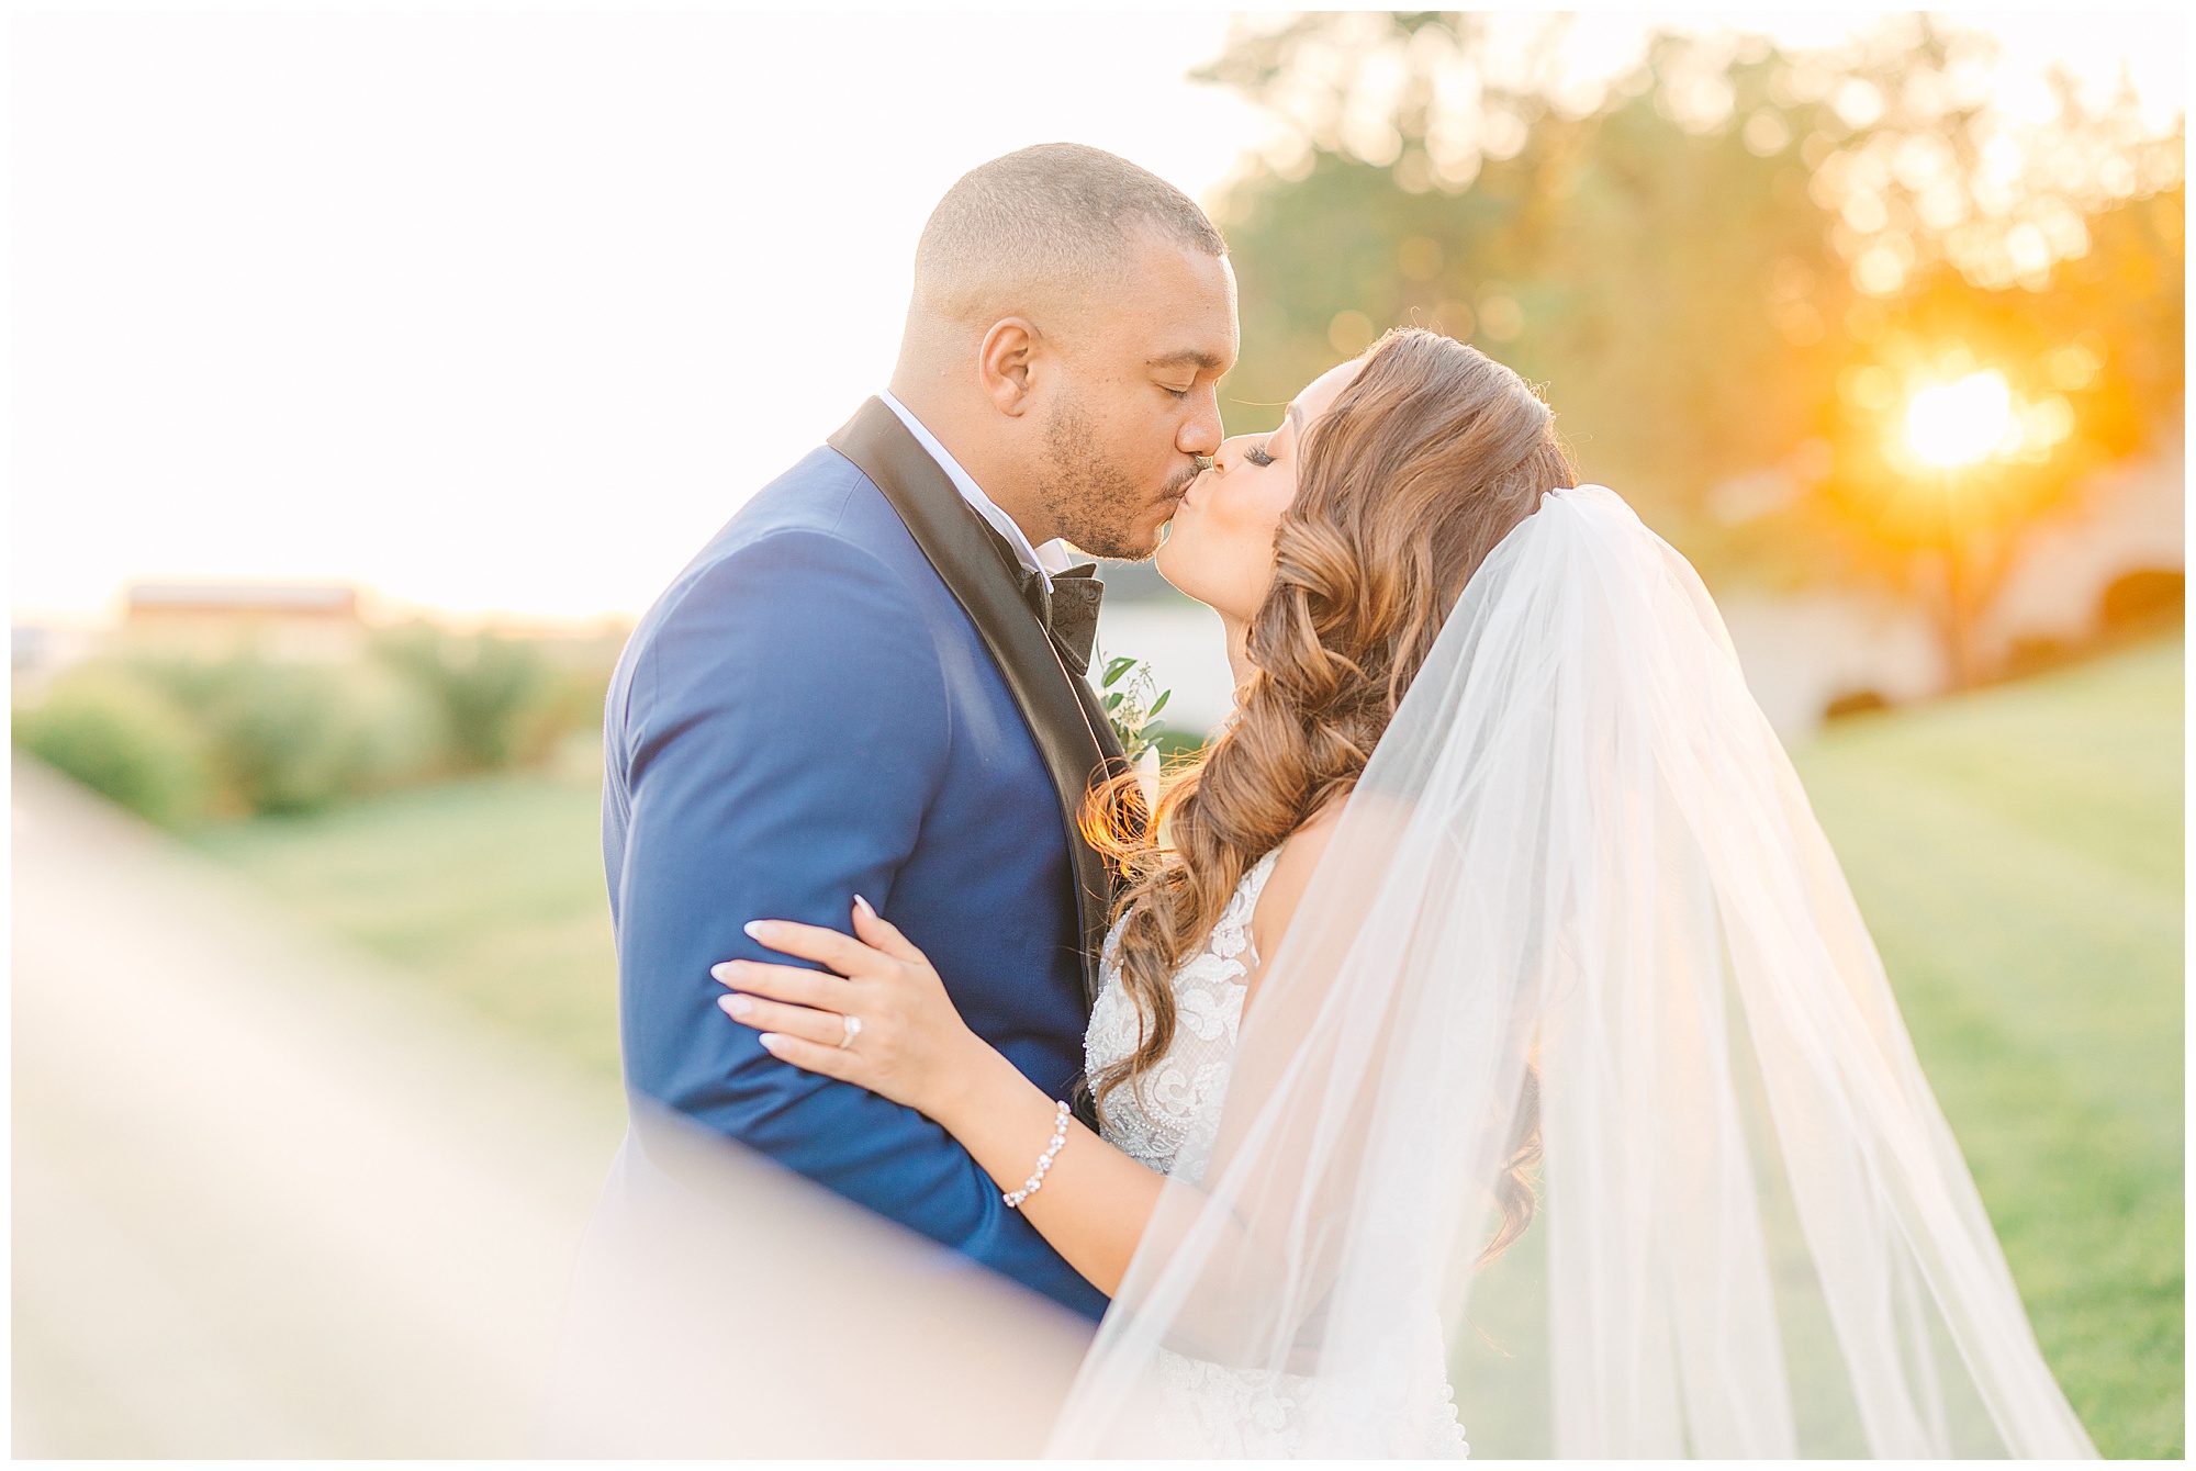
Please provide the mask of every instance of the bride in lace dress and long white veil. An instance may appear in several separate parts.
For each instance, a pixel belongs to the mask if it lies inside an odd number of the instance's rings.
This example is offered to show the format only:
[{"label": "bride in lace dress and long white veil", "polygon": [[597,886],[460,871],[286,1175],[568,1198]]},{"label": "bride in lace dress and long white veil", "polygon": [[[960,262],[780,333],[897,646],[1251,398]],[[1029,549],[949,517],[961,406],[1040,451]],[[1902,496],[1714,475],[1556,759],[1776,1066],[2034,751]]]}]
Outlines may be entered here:
[{"label": "bride in lace dress and long white veil", "polygon": [[1706,591],[1515,373],[1392,332],[1157,562],[1236,714],[1089,808],[1098,1133],[863,900],[718,966],[1111,1295],[1054,1453],[1465,1456],[1452,1381],[1482,1451],[2095,1453]]}]

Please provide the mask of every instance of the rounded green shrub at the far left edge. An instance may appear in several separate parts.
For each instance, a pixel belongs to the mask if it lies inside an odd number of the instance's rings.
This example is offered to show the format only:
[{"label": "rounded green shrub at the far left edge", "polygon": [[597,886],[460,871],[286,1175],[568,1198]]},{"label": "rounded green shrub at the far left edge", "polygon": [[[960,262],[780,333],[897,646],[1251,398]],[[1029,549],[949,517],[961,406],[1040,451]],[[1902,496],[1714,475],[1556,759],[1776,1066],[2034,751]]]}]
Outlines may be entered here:
[{"label": "rounded green shrub at the far left edge", "polygon": [[204,815],[211,782],[189,720],[125,670],[79,665],[15,711],[13,742],[147,821]]}]

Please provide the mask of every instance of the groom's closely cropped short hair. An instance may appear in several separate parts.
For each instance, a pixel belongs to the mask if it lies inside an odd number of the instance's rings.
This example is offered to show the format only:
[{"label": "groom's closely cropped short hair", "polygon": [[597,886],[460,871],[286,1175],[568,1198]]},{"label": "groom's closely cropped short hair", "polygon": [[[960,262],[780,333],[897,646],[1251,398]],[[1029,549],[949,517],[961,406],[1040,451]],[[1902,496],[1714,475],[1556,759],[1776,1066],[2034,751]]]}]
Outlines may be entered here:
[{"label": "groom's closely cropped short hair", "polygon": [[960,176],[916,246],[916,307],[988,327],[1118,277],[1138,233],[1228,255],[1197,200],[1127,158],[1039,143]]}]

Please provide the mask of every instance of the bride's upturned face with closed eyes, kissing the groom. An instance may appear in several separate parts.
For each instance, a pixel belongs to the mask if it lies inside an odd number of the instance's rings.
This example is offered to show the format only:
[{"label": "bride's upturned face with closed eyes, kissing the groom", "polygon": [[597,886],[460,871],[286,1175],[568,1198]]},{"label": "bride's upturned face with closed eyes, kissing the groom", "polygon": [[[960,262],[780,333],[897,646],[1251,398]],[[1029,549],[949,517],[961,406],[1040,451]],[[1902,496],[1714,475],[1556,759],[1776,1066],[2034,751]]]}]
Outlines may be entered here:
[{"label": "bride's upturned face with closed eyes, kissing the groom", "polygon": [[1271,435],[1236,435],[1190,481],[1155,558],[1159,575],[1221,617],[1247,624],[1274,586],[1274,534],[1296,501],[1304,428],[1357,378],[1362,362],[1326,369],[1289,404]]}]

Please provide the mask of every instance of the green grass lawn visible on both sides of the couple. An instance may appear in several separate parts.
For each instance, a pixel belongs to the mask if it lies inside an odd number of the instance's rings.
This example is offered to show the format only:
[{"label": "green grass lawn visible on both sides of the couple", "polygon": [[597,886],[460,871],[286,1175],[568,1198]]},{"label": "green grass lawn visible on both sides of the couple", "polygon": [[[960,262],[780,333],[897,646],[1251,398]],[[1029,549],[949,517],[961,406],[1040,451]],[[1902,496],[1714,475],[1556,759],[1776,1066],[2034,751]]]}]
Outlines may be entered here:
[{"label": "green grass lawn visible on both sides of the couple", "polygon": [[[1799,751],[2036,1335],[2106,1456],[2178,1456],[2183,648]],[[591,782],[204,834],[292,911],[617,1080]]]}]

